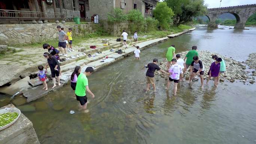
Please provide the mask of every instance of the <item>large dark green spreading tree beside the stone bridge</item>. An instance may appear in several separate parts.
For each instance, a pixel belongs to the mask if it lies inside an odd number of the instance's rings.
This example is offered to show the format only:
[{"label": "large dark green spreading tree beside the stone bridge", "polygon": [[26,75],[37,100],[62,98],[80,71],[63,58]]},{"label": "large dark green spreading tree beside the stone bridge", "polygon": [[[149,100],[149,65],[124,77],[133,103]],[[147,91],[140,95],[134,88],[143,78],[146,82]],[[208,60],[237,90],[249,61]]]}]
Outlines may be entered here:
[{"label": "large dark green spreading tree beside the stone bridge", "polygon": [[174,10],[173,23],[175,25],[184,24],[192,21],[199,15],[207,12],[204,0],[164,0],[168,7]]}]

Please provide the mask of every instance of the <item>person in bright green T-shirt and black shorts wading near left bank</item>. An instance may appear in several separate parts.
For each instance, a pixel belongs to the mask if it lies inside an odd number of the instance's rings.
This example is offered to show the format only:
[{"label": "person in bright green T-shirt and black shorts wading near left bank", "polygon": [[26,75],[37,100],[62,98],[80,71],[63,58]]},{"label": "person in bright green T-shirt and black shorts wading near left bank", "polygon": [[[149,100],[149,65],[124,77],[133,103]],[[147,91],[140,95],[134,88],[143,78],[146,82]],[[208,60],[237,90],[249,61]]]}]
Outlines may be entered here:
[{"label": "person in bright green T-shirt and black shorts wading near left bank", "polygon": [[86,91],[89,92],[89,94],[94,98],[94,94],[90,91],[89,86],[88,86],[88,79],[86,76],[90,76],[93,73],[93,68],[88,67],[86,68],[84,73],[80,73],[79,76],[77,77],[77,82],[76,82],[76,100],[80,102],[81,104],[81,109],[84,110],[85,113],[89,112],[89,110],[86,110],[87,106],[87,96],[86,96]]}]

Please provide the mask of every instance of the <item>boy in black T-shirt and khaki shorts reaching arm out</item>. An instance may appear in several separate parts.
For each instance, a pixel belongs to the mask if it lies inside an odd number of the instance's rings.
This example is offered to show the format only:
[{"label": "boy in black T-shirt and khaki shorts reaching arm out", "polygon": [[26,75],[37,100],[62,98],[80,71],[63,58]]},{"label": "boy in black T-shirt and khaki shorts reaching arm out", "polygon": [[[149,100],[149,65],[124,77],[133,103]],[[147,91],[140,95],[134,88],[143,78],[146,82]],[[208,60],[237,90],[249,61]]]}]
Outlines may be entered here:
[{"label": "boy in black T-shirt and khaki shorts reaching arm out", "polygon": [[161,68],[159,68],[157,63],[158,63],[158,59],[155,58],[155,59],[153,59],[152,63],[149,63],[149,64],[145,65],[145,68],[148,68],[147,73],[146,73],[146,80],[147,80],[147,89],[146,89],[146,91],[149,91],[149,87],[150,87],[150,84],[151,84],[153,86],[154,92],[157,92],[156,91],[155,79],[154,79],[154,73],[155,73],[156,70],[160,70],[162,73],[169,74],[169,73],[161,70]]}]

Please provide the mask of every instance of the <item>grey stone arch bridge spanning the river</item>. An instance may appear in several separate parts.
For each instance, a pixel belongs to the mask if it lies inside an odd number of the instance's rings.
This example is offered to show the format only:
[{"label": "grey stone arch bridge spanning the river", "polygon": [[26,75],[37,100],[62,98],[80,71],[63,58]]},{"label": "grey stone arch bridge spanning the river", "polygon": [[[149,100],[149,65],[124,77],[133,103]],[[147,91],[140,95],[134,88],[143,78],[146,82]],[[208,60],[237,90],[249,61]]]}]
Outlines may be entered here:
[{"label": "grey stone arch bridge spanning the river", "polygon": [[231,13],[237,19],[235,29],[244,29],[247,19],[255,12],[256,4],[208,9],[208,13],[206,15],[210,21],[208,27],[218,28],[218,25],[215,24],[215,21],[218,18],[218,16],[222,15],[223,13]]}]

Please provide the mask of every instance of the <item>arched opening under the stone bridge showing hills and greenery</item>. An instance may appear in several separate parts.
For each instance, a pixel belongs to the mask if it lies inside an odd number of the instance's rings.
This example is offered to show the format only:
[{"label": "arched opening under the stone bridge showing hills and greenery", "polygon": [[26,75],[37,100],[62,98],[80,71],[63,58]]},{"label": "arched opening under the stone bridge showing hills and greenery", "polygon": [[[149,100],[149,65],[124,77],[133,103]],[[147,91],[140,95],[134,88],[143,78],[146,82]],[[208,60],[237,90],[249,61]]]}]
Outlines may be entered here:
[{"label": "arched opening under the stone bridge showing hills and greenery", "polygon": [[222,13],[221,15],[217,16],[215,21],[218,25],[227,25],[227,26],[235,26],[240,22],[240,17],[236,13]]}]

